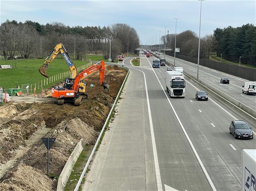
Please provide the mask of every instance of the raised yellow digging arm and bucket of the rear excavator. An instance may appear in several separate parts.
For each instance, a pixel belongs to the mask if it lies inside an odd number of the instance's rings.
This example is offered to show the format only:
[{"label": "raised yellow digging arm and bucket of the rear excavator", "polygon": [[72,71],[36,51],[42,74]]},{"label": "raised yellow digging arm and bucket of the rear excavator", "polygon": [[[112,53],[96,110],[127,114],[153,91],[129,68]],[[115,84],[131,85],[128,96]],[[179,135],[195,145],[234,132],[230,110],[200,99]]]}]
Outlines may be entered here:
[{"label": "raised yellow digging arm and bucket of the rear excavator", "polygon": [[[77,74],[76,66],[70,59],[69,55],[66,52],[65,47],[62,45],[62,43],[57,44],[55,48],[52,50],[50,55],[47,56],[47,58],[44,60],[43,65],[38,69],[39,73],[41,73],[44,77],[49,77],[46,73],[46,68],[48,68],[49,64],[51,64],[52,60],[56,58],[58,54],[62,54],[62,57],[65,59],[66,64],[68,65],[70,72],[71,72],[71,78],[75,78]],[[48,59],[49,58],[49,59]]]}]

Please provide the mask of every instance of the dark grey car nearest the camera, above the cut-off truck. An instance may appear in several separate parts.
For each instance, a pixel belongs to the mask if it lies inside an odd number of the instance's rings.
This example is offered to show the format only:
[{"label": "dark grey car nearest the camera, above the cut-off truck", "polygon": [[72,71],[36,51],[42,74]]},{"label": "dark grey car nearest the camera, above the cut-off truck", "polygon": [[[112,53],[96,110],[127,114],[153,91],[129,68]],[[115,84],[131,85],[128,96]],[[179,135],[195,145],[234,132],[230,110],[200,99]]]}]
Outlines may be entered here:
[{"label": "dark grey car nearest the camera, above the cut-off truck", "polygon": [[248,125],[244,120],[232,120],[229,125],[229,133],[234,136],[234,138],[246,138],[253,139],[252,127]]}]

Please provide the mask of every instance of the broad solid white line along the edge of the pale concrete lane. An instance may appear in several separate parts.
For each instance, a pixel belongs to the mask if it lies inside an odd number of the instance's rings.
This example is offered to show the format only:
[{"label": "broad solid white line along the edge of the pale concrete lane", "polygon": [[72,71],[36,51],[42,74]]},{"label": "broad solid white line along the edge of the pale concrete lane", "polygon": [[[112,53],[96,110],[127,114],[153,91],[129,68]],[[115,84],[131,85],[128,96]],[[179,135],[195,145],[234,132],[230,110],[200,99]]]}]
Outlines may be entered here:
[{"label": "broad solid white line along the edge of the pale concrete lane", "polygon": [[[131,64],[131,60],[130,60]],[[136,69],[136,68],[133,68]],[[138,70],[138,69],[137,69]],[[138,70],[142,72],[141,70]],[[154,134],[154,128],[152,123],[152,115],[150,110],[150,104],[149,104],[149,98],[148,98],[148,92],[147,92],[147,82],[146,82],[146,75],[144,72],[142,72],[144,75],[144,82],[145,82],[145,89],[146,89],[146,97],[147,97],[147,109],[148,109],[148,117],[149,117],[149,126],[150,126],[150,132],[151,132],[151,140],[152,140],[152,147],[153,147],[153,156],[154,156],[154,162],[155,162],[155,171],[156,171],[156,184],[157,184],[157,190],[162,191],[162,181],[160,176],[160,169],[158,164],[158,157],[157,157],[157,151],[156,151],[156,140],[155,140],[155,134]]]}]

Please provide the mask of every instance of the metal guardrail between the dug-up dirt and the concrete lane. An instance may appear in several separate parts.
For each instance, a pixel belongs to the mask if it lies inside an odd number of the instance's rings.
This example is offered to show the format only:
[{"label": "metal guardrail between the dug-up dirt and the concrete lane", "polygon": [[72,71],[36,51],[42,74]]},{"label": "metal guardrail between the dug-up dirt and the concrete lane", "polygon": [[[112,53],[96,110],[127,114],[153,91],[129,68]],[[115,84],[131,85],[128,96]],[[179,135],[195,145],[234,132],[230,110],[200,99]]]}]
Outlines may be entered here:
[{"label": "metal guardrail between the dug-up dirt and the concrete lane", "polygon": [[[96,62],[96,61],[92,61],[92,62]],[[97,61],[97,62],[98,62],[98,61]],[[121,68],[126,68],[126,69],[128,69],[127,67],[120,66],[120,64],[112,64],[112,63],[108,63],[108,62],[105,62],[105,64],[107,64],[107,65],[117,65],[117,66],[119,66],[119,67],[121,67]],[[116,96],[116,99],[115,99],[115,101],[114,101],[114,104],[113,104],[111,110],[109,111],[109,115],[108,115],[108,117],[107,117],[107,119],[106,119],[106,121],[105,121],[105,123],[104,123],[104,126],[102,127],[102,129],[101,129],[101,131],[100,131],[100,135],[99,135],[99,137],[98,137],[98,139],[97,139],[97,141],[96,141],[96,143],[95,143],[95,146],[93,147],[93,150],[92,150],[92,152],[91,152],[91,154],[90,154],[89,159],[87,160],[87,163],[85,164],[85,168],[84,168],[83,172],[81,173],[81,176],[80,176],[80,178],[79,178],[79,180],[78,180],[78,182],[77,182],[77,184],[76,184],[76,188],[74,189],[74,191],[78,191],[79,186],[81,185],[81,182],[82,182],[82,180],[83,180],[83,177],[85,176],[86,170],[87,170],[87,168],[88,168],[88,166],[89,166],[89,164],[90,164],[90,161],[91,161],[91,159],[92,159],[92,157],[93,157],[93,155],[94,155],[94,153],[95,153],[95,150],[96,150],[96,148],[97,148],[97,146],[98,146],[98,144],[99,144],[100,138],[101,138],[101,136],[102,136],[102,134],[103,134],[103,132],[104,132],[104,129],[105,129],[105,127],[106,127],[106,125],[107,125],[107,123],[108,123],[108,121],[109,121],[109,118],[110,118],[110,116],[111,116],[111,114],[112,114],[112,111],[113,111],[113,109],[114,109],[114,106],[116,105],[116,102],[117,102],[117,100],[118,100],[118,98],[119,98],[119,95],[120,95],[120,93],[121,93],[121,91],[122,91],[122,89],[123,89],[123,86],[124,86],[124,84],[125,84],[125,82],[126,82],[126,80],[127,80],[127,77],[128,77],[128,74],[129,74],[129,73],[130,73],[130,71],[129,71],[129,69],[128,69],[128,73],[126,74],[126,77],[125,77],[125,79],[124,79],[124,81],[123,81],[123,84],[122,84],[122,86],[120,87],[120,90],[119,90],[119,92],[118,92],[118,94],[117,94],[117,96]]]}]

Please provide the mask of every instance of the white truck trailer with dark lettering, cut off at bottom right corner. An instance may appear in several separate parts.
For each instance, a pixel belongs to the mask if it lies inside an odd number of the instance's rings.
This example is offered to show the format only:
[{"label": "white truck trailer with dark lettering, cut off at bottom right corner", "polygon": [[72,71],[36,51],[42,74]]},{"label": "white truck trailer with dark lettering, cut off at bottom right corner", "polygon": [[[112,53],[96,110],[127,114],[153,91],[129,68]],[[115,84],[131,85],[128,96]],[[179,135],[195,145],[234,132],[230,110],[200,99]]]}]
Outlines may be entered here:
[{"label": "white truck trailer with dark lettering, cut off at bottom right corner", "polygon": [[242,149],[242,191],[256,191],[256,149]]}]

